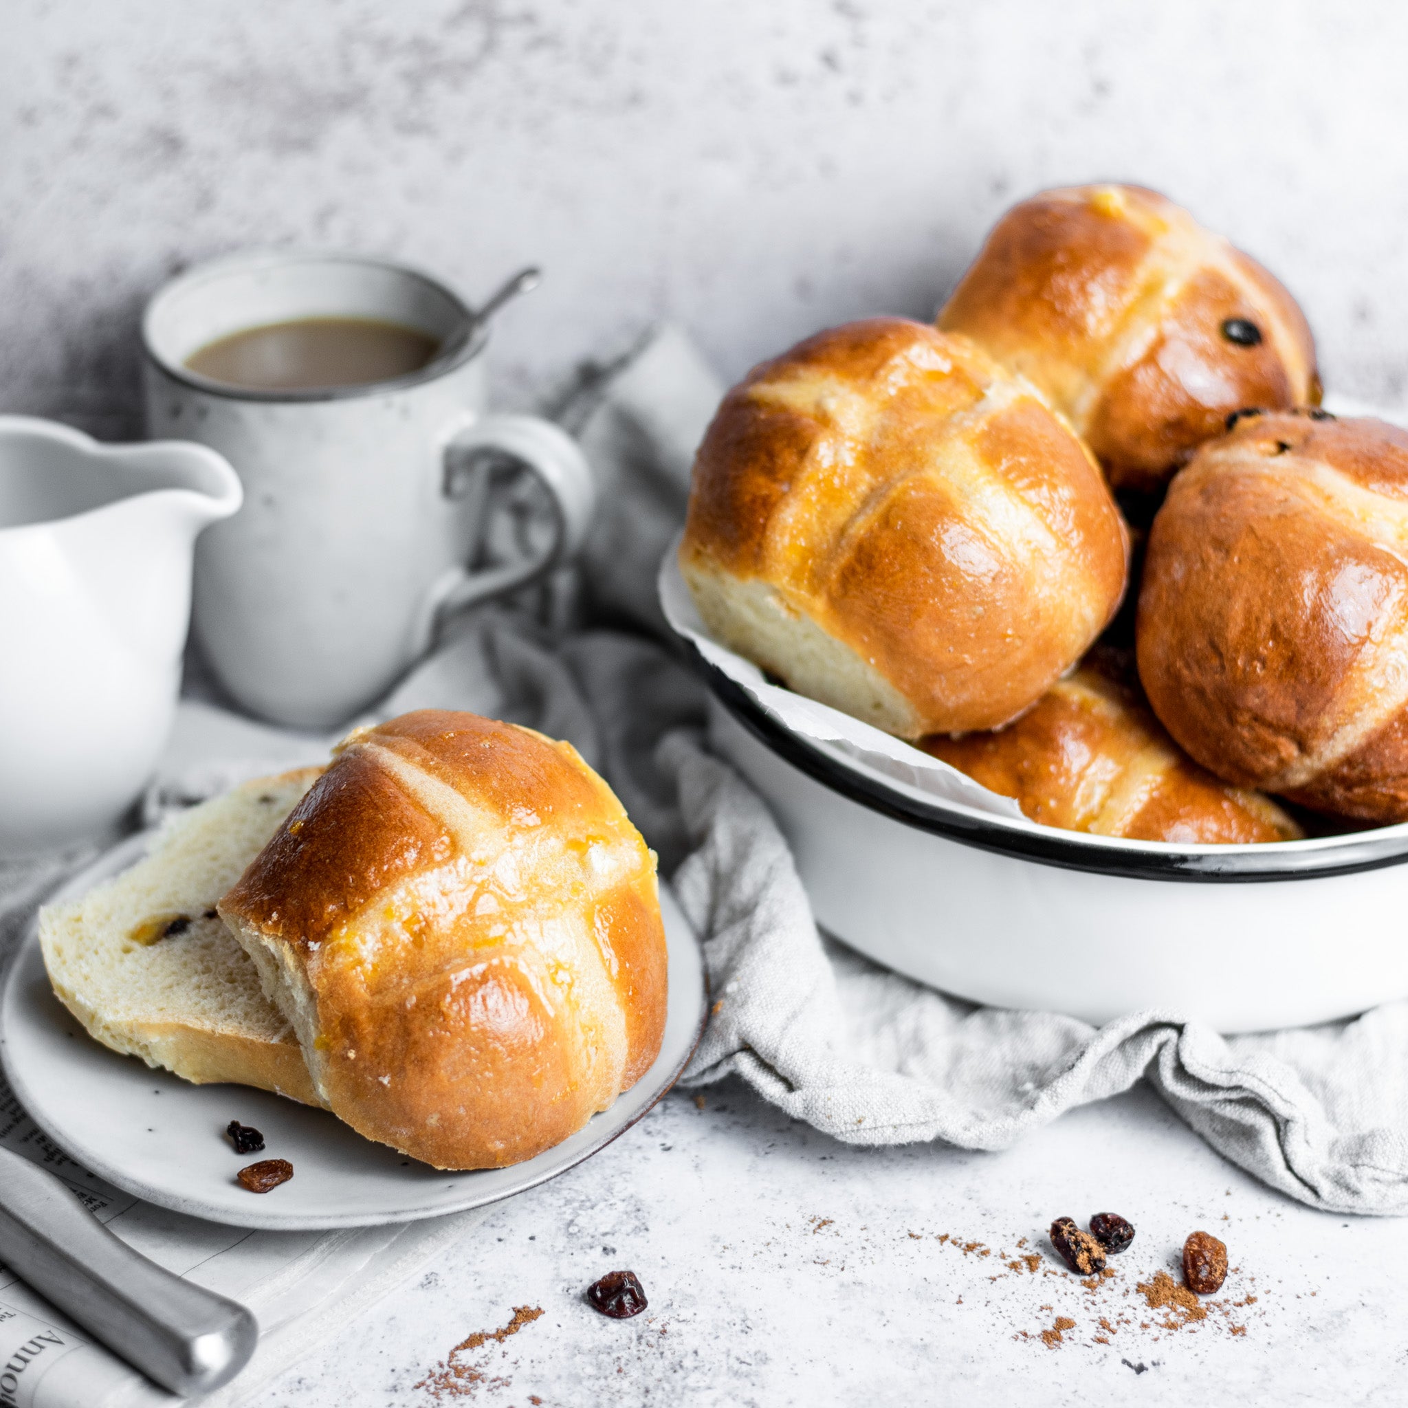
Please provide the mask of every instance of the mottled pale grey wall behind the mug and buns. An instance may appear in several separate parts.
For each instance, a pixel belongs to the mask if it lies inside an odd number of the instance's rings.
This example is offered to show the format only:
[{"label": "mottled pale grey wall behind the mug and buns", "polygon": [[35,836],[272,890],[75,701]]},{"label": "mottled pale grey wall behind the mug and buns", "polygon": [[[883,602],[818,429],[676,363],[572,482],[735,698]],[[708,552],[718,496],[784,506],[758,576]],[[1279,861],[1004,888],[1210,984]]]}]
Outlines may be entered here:
[{"label": "mottled pale grey wall behind the mug and buns", "polygon": [[522,406],[649,322],[718,369],[926,317],[1010,201],[1157,186],[1408,400],[1408,7],[1253,0],[0,0],[0,410],[141,431],[193,259],[315,244],[466,294],[527,260]]}]

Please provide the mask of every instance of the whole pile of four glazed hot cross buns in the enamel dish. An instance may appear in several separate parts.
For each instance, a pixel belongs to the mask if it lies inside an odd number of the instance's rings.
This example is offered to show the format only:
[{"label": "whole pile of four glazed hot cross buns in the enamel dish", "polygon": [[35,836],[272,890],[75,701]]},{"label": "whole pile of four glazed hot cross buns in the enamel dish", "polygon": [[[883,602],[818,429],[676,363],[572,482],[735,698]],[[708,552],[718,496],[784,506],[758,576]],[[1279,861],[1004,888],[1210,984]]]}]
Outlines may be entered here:
[{"label": "whole pile of four glazed hot cross buns in the enamel dish", "polygon": [[[1319,400],[1260,265],[1155,191],[1046,191],[936,329],[834,328],[728,394],[680,570],[721,643],[1035,821],[1297,839],[1252,788],[1408,821],[1408,434]],[[1138,676],[1076,669],[1126,576]]]}]

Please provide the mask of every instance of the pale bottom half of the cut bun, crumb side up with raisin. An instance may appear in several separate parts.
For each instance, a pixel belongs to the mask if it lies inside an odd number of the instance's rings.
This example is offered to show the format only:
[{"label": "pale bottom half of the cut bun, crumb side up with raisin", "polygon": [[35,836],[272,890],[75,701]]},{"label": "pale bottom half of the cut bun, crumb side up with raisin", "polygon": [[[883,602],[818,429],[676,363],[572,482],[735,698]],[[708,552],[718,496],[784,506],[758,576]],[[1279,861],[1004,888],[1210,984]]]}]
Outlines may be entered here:
[{"label": "pale bottom half of the cut bun, crumb side up with raisin", "polygon": [[193,807],[131,870],[39,911],[49,981],[89,1035],[196,1084],[321,1104],[297,1038],[215,912],[321,773],[256,779]]}]

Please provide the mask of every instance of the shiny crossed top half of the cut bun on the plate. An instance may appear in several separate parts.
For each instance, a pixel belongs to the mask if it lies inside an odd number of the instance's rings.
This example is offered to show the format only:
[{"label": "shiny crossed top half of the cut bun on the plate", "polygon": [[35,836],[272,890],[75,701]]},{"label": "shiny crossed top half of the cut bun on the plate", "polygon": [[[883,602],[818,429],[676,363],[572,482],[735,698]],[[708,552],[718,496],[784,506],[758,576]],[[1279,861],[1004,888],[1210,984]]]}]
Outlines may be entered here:
[{"label": "shiny crossed top half of the cut bun on the plate", "polygon": [[569,743],[425,710],[358,731],[220,904],[324,1101],[445,1169],[559,1143],[655,1060],[655,857]]}]

